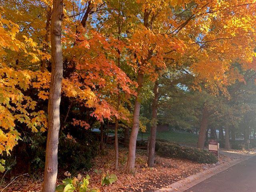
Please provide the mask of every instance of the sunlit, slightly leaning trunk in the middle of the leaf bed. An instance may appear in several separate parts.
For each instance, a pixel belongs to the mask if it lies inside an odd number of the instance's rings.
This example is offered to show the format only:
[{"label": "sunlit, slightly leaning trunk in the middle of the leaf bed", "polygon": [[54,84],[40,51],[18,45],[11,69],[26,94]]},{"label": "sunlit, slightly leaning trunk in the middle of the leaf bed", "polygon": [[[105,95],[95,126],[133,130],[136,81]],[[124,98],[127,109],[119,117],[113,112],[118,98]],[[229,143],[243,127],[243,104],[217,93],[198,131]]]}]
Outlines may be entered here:
[{"label": "sunlit, slightly leaning trunk in the middle of the leaf bed", "polygon": [[137,136],[139,132],[139,118],[140,118],[140,91],[142,88],[142,82],[143,82],[143,74],[138,73],[138,88],[137,88],[137,97],[135,99],[134,104],[134,112],[133,112],[133,120],[132,120],[132,132],[130,135],[130,141],[129,141],[129,152],[128,152],[128,160],[126,165],[126,173],[134,172],[134,165],[135,165],[135,157],[136,157],[136,142],[137,142]]}]

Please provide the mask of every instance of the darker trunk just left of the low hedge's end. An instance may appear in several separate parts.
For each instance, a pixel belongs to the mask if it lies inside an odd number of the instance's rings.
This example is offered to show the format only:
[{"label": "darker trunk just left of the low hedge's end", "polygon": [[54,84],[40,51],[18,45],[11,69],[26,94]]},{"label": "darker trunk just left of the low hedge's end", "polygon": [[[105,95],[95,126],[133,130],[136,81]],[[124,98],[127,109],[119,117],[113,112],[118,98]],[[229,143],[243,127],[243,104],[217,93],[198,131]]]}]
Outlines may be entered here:
[{"label": "darker trunk just left of the low hedge's end", "polygon": [[154,166],[155,160],[155,147],[156,147],[156,128],[157,128],[157,104],[158,104],[158,81],[154,85],[154,100],[152,102],[152,126],[150,130],[150,142],[148,153],[148,166]]}]

